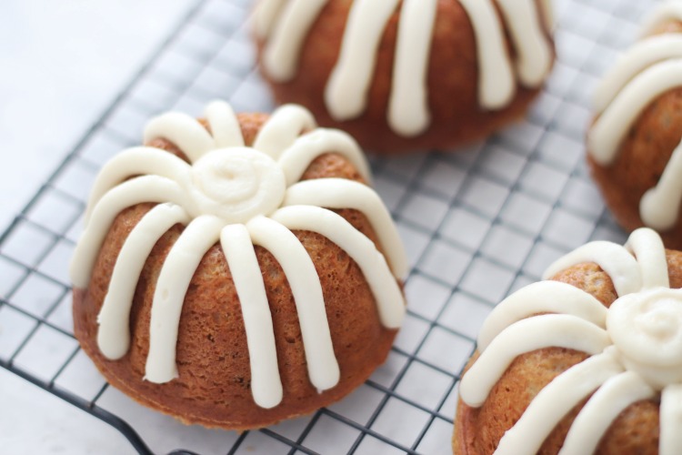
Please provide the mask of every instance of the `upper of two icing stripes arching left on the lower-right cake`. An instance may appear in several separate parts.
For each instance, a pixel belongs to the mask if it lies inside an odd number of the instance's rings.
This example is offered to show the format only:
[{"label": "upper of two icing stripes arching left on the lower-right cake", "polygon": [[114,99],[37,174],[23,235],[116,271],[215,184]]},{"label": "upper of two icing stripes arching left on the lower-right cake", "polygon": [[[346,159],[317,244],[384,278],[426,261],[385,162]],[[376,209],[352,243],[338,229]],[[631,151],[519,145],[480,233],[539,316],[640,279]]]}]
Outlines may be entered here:
[{"label": "upper of two icing stripes arching left on the lower-right cake", "polygon": [[[547,298],[548,295],[554,296]],[[485,351],[504,329],[539,313],[562,313],[606,328],[607,308],[582,289],[559,281],[538,281],[517,290],[497,304],[478,334],[478,349]]]}]

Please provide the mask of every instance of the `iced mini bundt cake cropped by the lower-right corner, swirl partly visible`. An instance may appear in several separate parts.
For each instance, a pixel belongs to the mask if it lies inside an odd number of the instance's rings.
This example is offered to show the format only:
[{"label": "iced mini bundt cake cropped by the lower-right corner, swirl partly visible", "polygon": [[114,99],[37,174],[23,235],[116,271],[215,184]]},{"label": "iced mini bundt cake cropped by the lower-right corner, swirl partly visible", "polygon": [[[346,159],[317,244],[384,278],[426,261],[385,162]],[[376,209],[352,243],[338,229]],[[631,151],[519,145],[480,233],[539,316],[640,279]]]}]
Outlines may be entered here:
[{"label": "iced mini bundt cake cropped by the lower-right corner, swirl partly visible", "polygon": [[456,454],[682,451],[682,252],[635,230],[560,258],[486,319]]}]

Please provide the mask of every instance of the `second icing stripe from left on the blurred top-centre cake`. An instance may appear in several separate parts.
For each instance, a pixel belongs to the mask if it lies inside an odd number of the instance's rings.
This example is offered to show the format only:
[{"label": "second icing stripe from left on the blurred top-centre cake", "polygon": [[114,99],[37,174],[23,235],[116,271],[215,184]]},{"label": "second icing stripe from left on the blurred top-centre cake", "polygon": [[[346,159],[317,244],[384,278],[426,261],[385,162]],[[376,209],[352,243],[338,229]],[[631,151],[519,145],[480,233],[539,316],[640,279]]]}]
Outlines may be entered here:
[{"label": "second icing stripe from left on the blurred top-centre cake", "polygon": [[291,0],[284,7],[266,45],[263,66],[279,82],[296,76],[301,46],[328,0]]}]

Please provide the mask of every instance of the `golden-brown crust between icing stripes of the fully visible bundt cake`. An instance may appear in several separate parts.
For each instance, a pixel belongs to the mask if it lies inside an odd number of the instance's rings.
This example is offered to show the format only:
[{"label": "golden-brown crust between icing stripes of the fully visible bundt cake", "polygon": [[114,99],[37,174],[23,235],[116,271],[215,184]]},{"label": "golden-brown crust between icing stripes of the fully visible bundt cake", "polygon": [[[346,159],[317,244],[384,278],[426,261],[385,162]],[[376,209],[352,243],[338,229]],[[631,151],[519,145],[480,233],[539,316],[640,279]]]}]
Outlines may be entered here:
[{"label": "golden-brown crust between icing stripes of the fully visible bundt cake", "polygon": [[[266,116],[239,116],[239,120],[249,145]],[[156,139],[154,146],[182,157],[165,139]],[[318,157],[302,179],[319,177],[361,180],[356,169],[334,153]],[[375,299],[356,262],[326,238],[309,231],[294,231],[313,258],[321,279],[326,317],[341,369],[341,379],[335,388],[317,393],[311,385],[294,298],[286,276],[266,249],[256,247],[272,312],[277,363],[284,389],[284,398],[275,408],[266,410],[256,406],[250,389],[242,311],[219,245],[208,250],[186,294],[176,348],[179,378],[165,384],[144,380],[155,282],[166,255],[183,230],[181,225],[160,238],[146,260],[131,310],[130,350],[123,359],[105,359],[96,344],[97,314],[125,238],[153,206],[139,204],[116,217],[97,258],[89,287],[74,289],[75,337],[95,361],[97,369],[116,388],[145,406],[188,424],[246,430],[304,415],[341,399],[386,359],[396,330],[381,325]],[[376,235],[364,215],[350,209],[336,210],[336,213],[376,243]]]}]

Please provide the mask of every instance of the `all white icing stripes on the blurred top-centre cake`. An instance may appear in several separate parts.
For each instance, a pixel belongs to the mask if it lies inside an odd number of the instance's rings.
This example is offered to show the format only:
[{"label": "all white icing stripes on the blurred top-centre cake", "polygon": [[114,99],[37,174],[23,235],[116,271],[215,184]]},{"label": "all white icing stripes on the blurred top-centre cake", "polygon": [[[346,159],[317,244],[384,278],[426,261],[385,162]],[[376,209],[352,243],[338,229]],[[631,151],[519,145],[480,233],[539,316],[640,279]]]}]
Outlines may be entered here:
[{"label": "all white icing stripes on the blurred top-centre cake", "polygon": [[[262,0],[256,9],[256,34],[266,40],[263,67],[268,76],[286,83],[296,76],[298,59],[306,35],[328,0]],[[543,0],[538,11],[535,0],[497,0],[506,19],[517,62],[510,62],[505,30],[492,0],[460,0],[476,35],[479,103],[485,109],[506,107],[516,92],[513,65],[524,86],[542,84],[552,62],[550,41],[542,29],[553,23],[552,5]],[[376,54],[398,0],[356,0],[346,20],[346,29],[336,66],[325,90],[326,108],[336,120],[361,116],[376,66]],[[400,136],[416,136],[430,125],[426,75],[436,24],[436,0],[405,0],[399,6],[388,125]],[[548,27],[548,26],[547,26]]]}]

